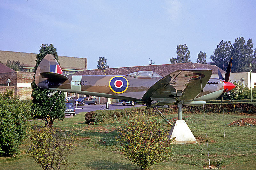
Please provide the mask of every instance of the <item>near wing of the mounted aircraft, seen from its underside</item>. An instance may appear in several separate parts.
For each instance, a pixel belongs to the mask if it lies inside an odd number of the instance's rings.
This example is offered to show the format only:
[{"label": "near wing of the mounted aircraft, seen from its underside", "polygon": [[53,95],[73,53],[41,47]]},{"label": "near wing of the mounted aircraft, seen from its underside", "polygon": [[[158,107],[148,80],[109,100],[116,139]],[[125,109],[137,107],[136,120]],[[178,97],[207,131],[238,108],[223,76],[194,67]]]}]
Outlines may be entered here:
[{"label": "near wing of the mounted aircraft, seen from its underside", "polygon": [[209,69],[178,70],[157,81],[144,97],[162,102],[174,97],[179,101],[192,100],[201,92],[201,88],[204,89],[211,75],[212,70]]}]

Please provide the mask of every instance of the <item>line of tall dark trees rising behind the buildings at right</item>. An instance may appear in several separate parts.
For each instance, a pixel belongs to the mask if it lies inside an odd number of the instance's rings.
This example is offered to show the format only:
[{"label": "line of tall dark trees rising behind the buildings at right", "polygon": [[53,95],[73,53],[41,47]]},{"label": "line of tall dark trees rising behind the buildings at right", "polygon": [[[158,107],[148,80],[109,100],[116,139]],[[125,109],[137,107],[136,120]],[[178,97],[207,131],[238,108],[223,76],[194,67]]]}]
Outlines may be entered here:
[{"label": "line of tall dark trees rising behind the buildings at right", "polygon": [[[170,58],[172,64],[175,63],[189,63],[190,61],[190,51],[186,44],[177,46],[177,57]],[[200,51],[196,59],[197,63],[206,64],[206,53]],[[253,50],[252,39],[250,38],[247,42],[244,37],[239,37],[235,39],[235,42],[231,44],[230,41],[221,41],[217,48],[214,50],[213,55],[210,59],[212,65],[216,65],[223,70],[226,70],[228,62],[233,58],[231,72],[248,72],[249,64],[252,64],[254,71],[256,70],[256,49]]]}]

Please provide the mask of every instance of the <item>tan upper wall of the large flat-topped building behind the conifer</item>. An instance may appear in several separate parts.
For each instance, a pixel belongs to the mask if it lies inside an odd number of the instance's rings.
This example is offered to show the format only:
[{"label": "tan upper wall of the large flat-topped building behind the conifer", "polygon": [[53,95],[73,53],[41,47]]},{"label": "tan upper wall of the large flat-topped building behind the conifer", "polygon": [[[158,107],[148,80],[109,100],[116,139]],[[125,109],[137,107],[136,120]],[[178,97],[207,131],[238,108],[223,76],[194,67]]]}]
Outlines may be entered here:
[{"label": "tan upper wall of the large flat-topped building behind the conifer", "polygon": [[[23,67],[35,67],[36,53],[14,52],[0,50],[0,61],[6,64],[6,60],[20,61]],[[59,56],[62,69],[87,70],[87,58]]]}]

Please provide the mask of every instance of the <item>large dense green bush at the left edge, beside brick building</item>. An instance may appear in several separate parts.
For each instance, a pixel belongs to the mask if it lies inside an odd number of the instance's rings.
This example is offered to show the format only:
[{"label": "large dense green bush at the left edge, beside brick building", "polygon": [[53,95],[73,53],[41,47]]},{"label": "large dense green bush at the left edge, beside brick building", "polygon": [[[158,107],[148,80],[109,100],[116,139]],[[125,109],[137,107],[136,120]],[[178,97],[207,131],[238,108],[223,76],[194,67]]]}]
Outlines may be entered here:
[{"label": "large dense green bush at the left edge, beside brick building", "polygon": [[26,135],[31,103],[20,101],[12,90],[0,95],[0,156],[17,156]]}]

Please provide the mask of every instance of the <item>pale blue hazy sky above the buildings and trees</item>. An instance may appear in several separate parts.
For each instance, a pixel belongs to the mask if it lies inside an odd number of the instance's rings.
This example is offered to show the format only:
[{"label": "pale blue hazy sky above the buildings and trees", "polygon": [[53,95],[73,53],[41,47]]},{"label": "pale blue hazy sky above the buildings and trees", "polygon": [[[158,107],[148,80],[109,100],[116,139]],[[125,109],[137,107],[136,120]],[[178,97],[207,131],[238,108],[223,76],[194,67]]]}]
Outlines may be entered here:
[{"label": "pale blue hazy sky above the buildings and trees", "polygon": [[38,53],[53,44],[62,56],[86,57],[97,69],[170,64],[187,44],[191,62],[221,40],[252,38],[256,48],[256,1],[54,1],[1,0],[0,50]]}]

